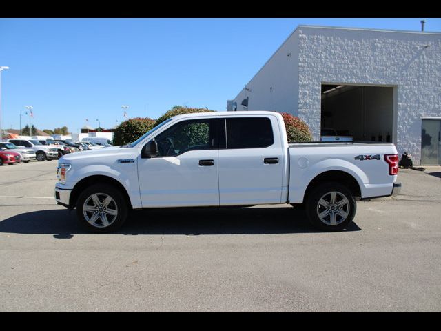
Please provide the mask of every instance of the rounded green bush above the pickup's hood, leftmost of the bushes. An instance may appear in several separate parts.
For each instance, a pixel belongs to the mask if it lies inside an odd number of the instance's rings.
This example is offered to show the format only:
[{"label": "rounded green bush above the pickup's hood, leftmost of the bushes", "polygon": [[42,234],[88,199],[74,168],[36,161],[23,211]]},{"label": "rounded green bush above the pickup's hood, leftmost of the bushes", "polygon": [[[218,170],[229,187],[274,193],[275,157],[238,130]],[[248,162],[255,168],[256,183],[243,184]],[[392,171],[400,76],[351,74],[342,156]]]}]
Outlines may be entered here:
[{"label": "rounded green bush above the pickup's hood, leftmost of the bushes", "polygon": [[148,117],[136,117],[123,121],[114,131],[113,145],[120,146],[132,143],[153,128],[154,123],[154,119],[149,119]]}]

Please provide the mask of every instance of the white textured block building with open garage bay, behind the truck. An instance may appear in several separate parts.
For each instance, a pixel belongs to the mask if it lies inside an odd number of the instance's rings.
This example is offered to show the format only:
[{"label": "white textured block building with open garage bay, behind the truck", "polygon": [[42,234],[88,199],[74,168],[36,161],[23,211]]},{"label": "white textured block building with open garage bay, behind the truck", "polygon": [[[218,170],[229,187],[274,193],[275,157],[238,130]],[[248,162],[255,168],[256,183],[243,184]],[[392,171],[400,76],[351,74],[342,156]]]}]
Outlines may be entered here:
[{"label": "white textured block building with open garage bay, behind the truck", "polygon": [[288,112],[315,140],[334,128],[439,165],[441,33],[298,26],[227,101],[235,109]]}]

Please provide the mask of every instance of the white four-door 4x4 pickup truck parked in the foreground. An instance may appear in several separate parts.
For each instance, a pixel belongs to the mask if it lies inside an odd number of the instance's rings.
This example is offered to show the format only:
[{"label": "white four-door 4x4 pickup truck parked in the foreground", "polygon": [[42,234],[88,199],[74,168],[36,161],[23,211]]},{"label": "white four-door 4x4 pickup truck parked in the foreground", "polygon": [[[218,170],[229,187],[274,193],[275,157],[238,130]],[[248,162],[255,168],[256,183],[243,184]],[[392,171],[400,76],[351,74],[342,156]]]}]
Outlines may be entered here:
[{"label": "white four-door 4x4 pickup truck parked in the foreground", "polygon": [[66,154],[54,196],[95,232],[140,208],[291,203],[322,230],[342,230],[356,198],[397,194],[392,143],[289,144],[277,112],[172,117],[126,146]]}]

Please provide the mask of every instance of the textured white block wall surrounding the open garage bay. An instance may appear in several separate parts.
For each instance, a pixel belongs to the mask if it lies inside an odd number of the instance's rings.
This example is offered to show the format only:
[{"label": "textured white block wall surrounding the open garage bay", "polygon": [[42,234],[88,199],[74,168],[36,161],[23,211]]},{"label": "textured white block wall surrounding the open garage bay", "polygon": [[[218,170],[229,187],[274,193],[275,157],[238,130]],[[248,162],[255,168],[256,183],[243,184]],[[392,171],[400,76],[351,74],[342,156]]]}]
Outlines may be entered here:
[{"label": "textured white block wall surrounding the open garage bay", "polygon": [[[394,86],[396,146],[420,162],[421,116],[441,117],[441,34],[299,26],[298,116],[320,134],[321,83]],[[425,47],[428,46],[428,47]]]}]

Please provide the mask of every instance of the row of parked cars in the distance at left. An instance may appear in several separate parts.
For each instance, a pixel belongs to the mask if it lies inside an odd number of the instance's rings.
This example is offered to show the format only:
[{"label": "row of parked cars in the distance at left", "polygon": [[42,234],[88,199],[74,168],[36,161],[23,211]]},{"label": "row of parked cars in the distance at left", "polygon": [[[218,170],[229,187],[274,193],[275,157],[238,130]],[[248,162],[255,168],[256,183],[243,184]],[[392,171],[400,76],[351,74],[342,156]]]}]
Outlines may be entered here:
[{"label": "row of parked cars in the distance at left", "polygon": [[0,141],[0,165],[59,159],[65,154],[111,146],[107,142],[8,139]]}]

